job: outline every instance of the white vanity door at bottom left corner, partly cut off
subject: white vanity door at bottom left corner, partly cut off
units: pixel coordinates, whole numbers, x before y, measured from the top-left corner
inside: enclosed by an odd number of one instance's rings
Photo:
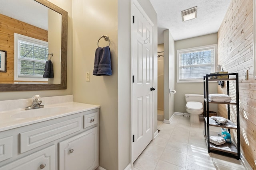
[[[0,167],[0,170],[54,170],[54,145]]]

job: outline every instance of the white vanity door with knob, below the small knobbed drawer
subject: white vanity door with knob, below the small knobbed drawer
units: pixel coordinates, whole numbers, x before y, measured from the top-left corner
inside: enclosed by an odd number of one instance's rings
[[[59,170],[94,170],[98,164],[98,127],[59,143]]]

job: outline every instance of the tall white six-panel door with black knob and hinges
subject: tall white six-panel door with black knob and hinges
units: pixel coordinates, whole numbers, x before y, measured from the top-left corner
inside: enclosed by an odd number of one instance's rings
[[[133,4],[132,24],[132,161],[142,153],[153,138],[153,26],[144,11]]]

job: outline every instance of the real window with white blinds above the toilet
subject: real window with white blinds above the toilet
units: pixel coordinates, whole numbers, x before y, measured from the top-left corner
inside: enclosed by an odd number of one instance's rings
[[[177,51],[177,82],[202,82],[203,76],[215,72],[217,45]]]

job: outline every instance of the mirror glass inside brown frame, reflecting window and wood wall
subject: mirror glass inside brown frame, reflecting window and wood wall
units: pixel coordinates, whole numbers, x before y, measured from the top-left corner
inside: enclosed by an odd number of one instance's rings
[[[60,84],[62,15],[34,0],[0,0],[0,50],[7,51],[2,84]],[[48,55],[48,54],[53,55]],[[51,60],[54,77],[43,78]]]

